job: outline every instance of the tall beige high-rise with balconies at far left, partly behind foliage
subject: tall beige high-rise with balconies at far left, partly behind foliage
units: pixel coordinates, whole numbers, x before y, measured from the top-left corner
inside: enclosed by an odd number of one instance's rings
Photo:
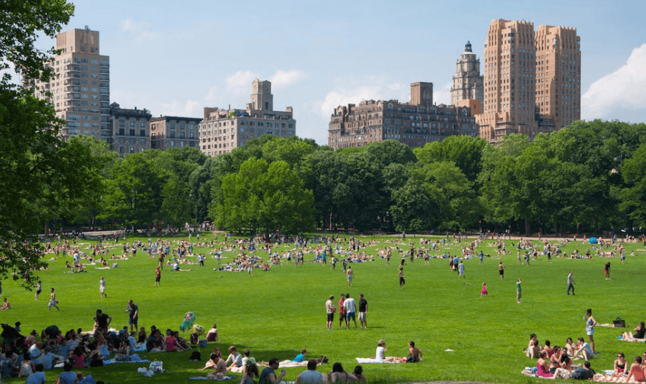
[[[62,135],[95,136],[111,142],[110,58],[99,54],[99,32],[71,29],[56,35],[60,55],[46,65],[53,67],[56,78],[49,83],[36,81],[36,96],[52,93],[50,102],[56,116],[65,124]]]

